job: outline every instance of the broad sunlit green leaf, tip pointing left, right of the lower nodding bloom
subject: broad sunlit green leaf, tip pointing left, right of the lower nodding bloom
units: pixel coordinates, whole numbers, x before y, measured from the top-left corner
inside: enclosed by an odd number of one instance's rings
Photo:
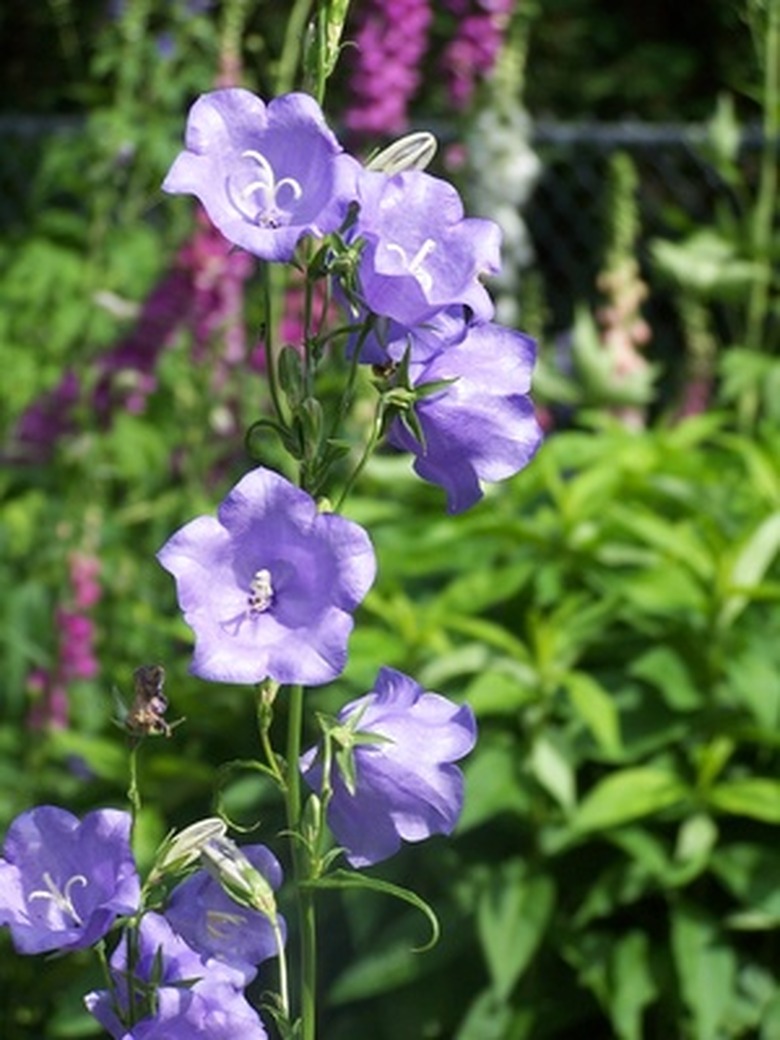
[[[682,802],[687,788],[672,773],[636,766],[612,773],[581,802],[573,827],[577,831],[606,830],[649,816]]]

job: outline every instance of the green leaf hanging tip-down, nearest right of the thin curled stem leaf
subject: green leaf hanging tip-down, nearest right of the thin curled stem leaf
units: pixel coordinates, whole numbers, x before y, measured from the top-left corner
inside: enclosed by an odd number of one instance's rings
[[[493,989],[505,1000],[539,947],[555,906],[549,875],[530,876],[522,860],[496,870],[479,896],[477,928]]]

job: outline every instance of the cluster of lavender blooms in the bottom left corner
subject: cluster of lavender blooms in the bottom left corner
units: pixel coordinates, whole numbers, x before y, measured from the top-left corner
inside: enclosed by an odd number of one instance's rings
[[[275,931],[267,913],[231,900],[203,869],[174,889],[164,914],[141,916],[130,823],[115,809],[81,821],[56,806],[23,812],[0,857],[0,927],[20,953],[40,954],[93,945],[126,918],[135,934],[115,945],[111,989],[85,997],[114,1040],[266,1040],[244,989],[280,953],[284,920],[274,912]],[[267,849],[236,854],[269,892],[279,887]]]

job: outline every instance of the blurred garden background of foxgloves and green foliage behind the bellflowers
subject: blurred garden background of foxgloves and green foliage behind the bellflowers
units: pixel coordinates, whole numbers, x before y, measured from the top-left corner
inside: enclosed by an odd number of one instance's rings
[[[392,454],[350,506],[380,579],[348,693],[382,659],[467,697],[482,737],[457,840],[392,862],[446,941],[414,955],[394,906],[328,908],[329,1040],[780,1035],[779,10],[353,4],[327,111],[365,152],[439,134],[503,228],[501,320],[540,338],[551,433],[456,522]],[[283,826],[256,777],[220,779],[252,702],[185,674],[153,555],[248,468],[266,402],[254,264],[159,183],[198,94],[275,93],[288,28],[274,0],[0,11],[3,829],[122,803],[113,694],[153,661],[186,722],[141,758],[149,847],[217,781]],[[696,161],[678,196],[670,139]],[[4,1037],[95,1035],[78,960],[4,953]]]

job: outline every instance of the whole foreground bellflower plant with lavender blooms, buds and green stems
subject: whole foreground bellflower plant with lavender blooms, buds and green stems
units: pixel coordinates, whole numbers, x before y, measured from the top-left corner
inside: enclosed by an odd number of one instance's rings
[[[323,0],[314,14],[319,53],[310,48],[303,63],[321,94],[346,4]],[[314,717],[319,739],[303,747],[315,687],[341,681],[375,578],[368,531],[333,505],[341,509],[372,452],[408,450],[458,513],[485,484],[528,464],[540,443],[528,396],[535,344],[493,321],[483,284],[500,266],[499,229],[467,216],[456,188],[420,168],[430,153],[427,140],[401,142],[365,168],[310,94],[266,102],[228,86],[196,101],[165,178],[165,191],[196,196],[225,240],[261,269],[270,408],[248,435],[258,464],[213,514],[171,535],[157,558],[193,633],[190,672],[255,691],[260,750],[251,766],[284,801],[297,971],[288,972],[277,905],[282,866],[265,846],[233,841],[227,821],[166,836],[139,877],[129,852],[138,750],[147,738],[175,737],[179,725],[165,718],[163,669],[141,667],[118,720],[131,745],[132,811],[79,823],[45,807],[14,826],[0,858],[10,893],[0,893],[0,926],[20,950],[102,946],[109,932],[120,934],[103,957],[106,988],[86,997],[115,1040],[265,1040],[245,991],[269,960],[278,985],[264,1012],[283,1040],[316,1040],[323,888],[401,900],[437,937],[419,895],[362,869],[405,842],[451,833],[464,797],[458,763],[476,737],[471,708],[380,667],[362,697],[335,717]],[[301,335],[280,344],[289,266],[303,278]],[[368,392],[374,417],[363,430],[353,405]],[[283,449],[284,473],[266,464],[270,439]],[[286,720],[282,739],[277,717]],[[93,838],[105,831],[112,869],[97,880],[70,868],[79,828],[90,862],[100,857]],[[32,915],[37,902],[56,914]],[[23,924],[33,917],[30,939]]]

